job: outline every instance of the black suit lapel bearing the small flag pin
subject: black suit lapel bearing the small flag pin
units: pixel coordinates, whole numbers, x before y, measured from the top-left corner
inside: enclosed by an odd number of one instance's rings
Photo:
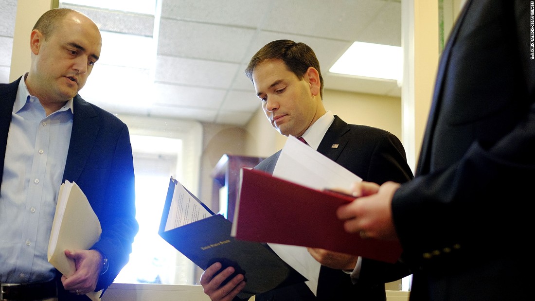
[[[349,131],[349,126],[345,121],[334,115],[334,121],[319,143],[318,152],[325,157],[336,161],[343,148],[346,147],[348,138],[343,137]]]

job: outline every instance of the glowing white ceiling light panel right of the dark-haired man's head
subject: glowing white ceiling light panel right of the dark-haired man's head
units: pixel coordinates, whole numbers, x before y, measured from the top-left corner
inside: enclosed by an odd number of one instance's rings
[[[331,73],[401,80],[401,47],[355,42],[329,69]]]

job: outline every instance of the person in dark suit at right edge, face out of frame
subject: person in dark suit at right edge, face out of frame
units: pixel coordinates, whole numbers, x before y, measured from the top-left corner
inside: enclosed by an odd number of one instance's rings
[[[357,183],[361,197],[337,212],[349,232],[400,241],[411,301],[533,298],[522,255],[533,229],[532,41],[533,1],[468,0],[440,59],[415,179]]]

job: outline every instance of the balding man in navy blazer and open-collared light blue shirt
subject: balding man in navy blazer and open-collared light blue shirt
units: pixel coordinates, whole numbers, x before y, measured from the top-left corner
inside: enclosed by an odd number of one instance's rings
[[[100,30],[52,9],[30,34],[28,73],[0,84],[0,286],[6,300],[88,300],[127,263],[137,233],[128,128],[78,91],[101,52]],[[47,249],[60,185],[78,184],[102,227],[90,250],[66,250],[65,277]]]

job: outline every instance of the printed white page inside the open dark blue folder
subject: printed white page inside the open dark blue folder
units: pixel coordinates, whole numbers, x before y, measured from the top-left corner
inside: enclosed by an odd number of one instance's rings
[[[176,181],[173,179],[173,181]],[[173,200],[167,215],[165,231],[188,223],[211,217],[206,210],[180,183],[175,182]]]

